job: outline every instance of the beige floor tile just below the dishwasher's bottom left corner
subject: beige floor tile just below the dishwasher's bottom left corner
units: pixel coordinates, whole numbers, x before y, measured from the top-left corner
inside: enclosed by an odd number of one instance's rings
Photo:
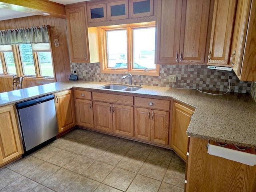
[[[38,165],[42,164],[44,161],[34,158],[32,156],[29,156],[28,158],[18,162],[14,166],[11,166],[10,169],[19,173],[19,174],[26,174],[30,170],[34,169]]]

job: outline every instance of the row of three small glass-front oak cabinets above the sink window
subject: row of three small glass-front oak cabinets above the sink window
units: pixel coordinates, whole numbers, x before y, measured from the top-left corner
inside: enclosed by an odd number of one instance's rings
[[[88,26],[155,21],[156,0],[94,0],[86,2]]]

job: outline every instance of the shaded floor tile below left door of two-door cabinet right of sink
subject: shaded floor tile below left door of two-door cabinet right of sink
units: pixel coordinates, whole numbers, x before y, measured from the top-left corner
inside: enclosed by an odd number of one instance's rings
[[[151,146],[151,145],[136,143],[128,151],[128,154],[146,159],[146,158],[148,158],[148,156],[153,148],[154,148],[154,146]]]

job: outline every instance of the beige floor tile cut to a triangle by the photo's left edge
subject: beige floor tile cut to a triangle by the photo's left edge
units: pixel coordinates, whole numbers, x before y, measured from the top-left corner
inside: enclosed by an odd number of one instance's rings
[[[2,168],[0,169],[0,190],[7,186],[8,184],[14,182],[18,178],[20,178],[22,175],[8,169],[8,168]]]

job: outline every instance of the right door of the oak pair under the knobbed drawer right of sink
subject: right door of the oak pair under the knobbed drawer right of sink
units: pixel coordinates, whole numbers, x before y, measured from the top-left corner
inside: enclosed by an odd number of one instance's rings
[[[151,141],[168,145],[168,138],[169,112],[151,110]]]

